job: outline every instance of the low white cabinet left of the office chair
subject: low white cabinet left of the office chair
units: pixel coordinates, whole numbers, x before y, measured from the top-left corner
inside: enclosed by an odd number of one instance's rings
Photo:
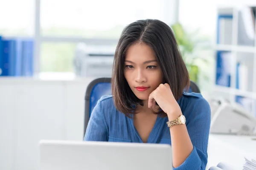
[[[82,140],[91,80],[1,78],[0,170],[38,169],[41,139]]]

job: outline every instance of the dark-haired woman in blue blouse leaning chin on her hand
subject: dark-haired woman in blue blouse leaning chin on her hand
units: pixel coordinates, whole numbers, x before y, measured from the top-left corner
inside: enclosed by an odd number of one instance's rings
[[[113,96],[97,102],[84,140],[171,144],[175,170],[205,170],[210,108],[201,94],[185,92],[189,82],[168,25],[129,24],[116,47]]]

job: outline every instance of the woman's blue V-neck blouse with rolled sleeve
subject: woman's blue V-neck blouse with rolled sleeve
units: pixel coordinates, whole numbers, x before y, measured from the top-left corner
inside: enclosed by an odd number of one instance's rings
[[[193,144],[192,153],[174,170],[205,170],[211,111],[201,94],[183,93],[177,101],[186,117],[186,127]],[[133,116],[133,115],[132,115]],[[157,117],[148,143],[171,144],[168,118]],[[87,125],[84,141],[143,142],[134,127],[133,119],[116,110],[112,96],[102,96]]]

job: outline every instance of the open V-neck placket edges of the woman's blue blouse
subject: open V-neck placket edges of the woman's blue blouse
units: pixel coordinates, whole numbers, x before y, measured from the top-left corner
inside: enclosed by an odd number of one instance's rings
[[[143,143],[143,140],[142,140],[140,134],[138,133],[136,127],[134,126],[134,114],[131,114],[130,124],[134,130],[134,133],[139,138],[140,143]],[[157,119],[156,119],[156,122],[154,123],[153,129],[149,133],[147,143],[156,143],[157,142],[157,138],[159,136],[160,129],[161,129],[162,125],[163,125],[163,119],[161,119],[160,116],[157,115]]]

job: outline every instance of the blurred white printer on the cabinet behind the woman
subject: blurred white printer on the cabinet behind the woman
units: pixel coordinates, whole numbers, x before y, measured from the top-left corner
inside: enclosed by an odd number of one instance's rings
[[[87,45],[78,43],[74,68],[79,77],[111,77],[115,45]]]

